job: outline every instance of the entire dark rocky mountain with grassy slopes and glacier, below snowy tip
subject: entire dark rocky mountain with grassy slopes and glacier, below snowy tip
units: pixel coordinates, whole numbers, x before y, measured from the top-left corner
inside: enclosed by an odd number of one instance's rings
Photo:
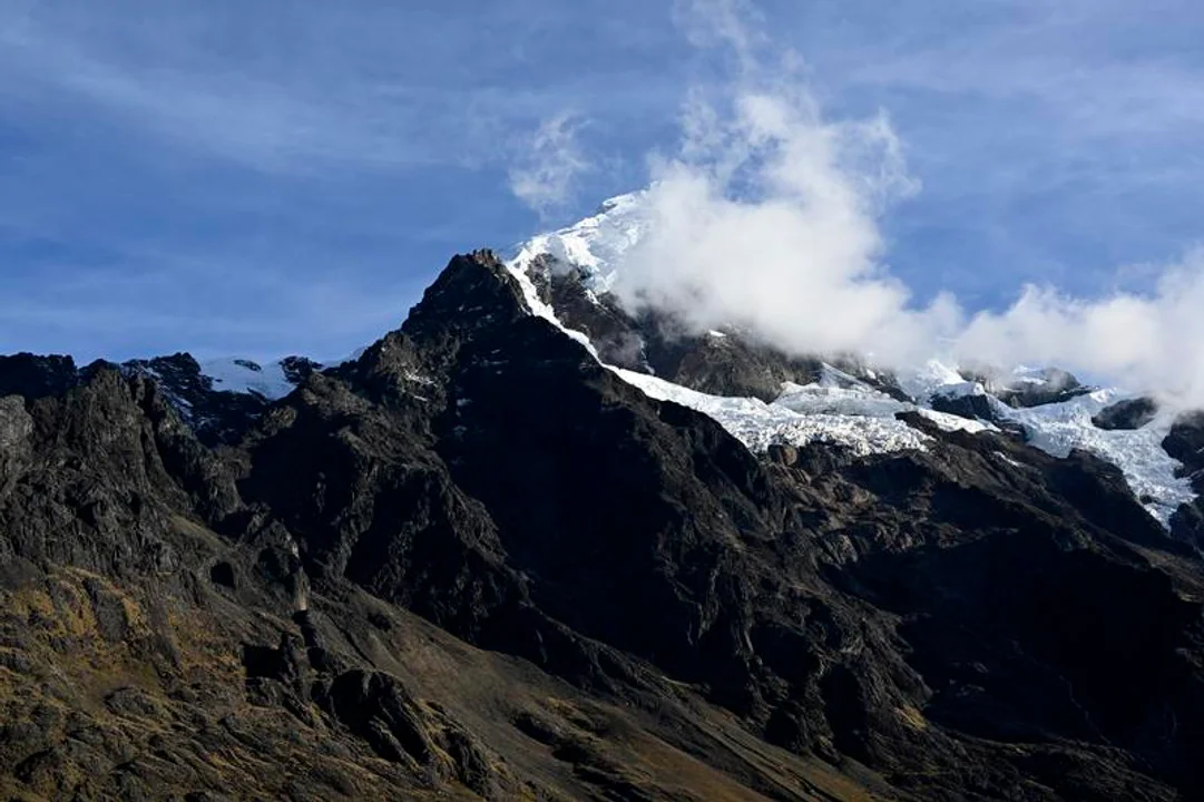
[[[5,798],[1204,796],[1199,417],[527,256],[337,365],[0,359]]]

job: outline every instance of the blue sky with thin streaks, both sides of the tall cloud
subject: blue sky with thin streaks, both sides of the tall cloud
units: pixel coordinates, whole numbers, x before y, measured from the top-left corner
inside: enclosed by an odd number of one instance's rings
[[[668,1],[0,13],[0,352],[348,353],[453,253],[644,184],[687,94],[731,81],[694,35],[701,12]],[[1204,241],[1198,2],[765,0],[744,16],[761,47],[797,51],[826,116],[890,118],[922,188],[884,218],[886,259],[917,301],[1141,290],[1144,265]],[[532,210],[514,177],[541,131],[576,167]]]

